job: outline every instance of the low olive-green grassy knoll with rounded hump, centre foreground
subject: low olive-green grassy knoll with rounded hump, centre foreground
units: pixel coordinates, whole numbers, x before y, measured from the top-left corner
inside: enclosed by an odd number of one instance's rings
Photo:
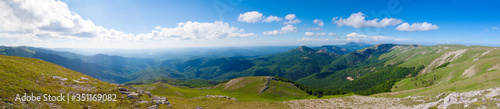
[[[234,97],[238,101],[288,101],[310,98],[310,95],[295,87],[293,84],[271,80],[269,88],[260,93],[264,87],[266,77],[243,77],[239,82],[225,87],[227,83],[210,88],[176,87],[164,83],[151,85],[133,85],[136,88],[149,90],[154,95],[176,96],[182,98],[204,97],[206,95],[224,95]]]

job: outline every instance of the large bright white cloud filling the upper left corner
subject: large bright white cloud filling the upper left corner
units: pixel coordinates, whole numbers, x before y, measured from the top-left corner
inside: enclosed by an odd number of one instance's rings
[[[115,37],[130,38],[113,29],[96,26],[71,12],[66,3],[56,0],[0,1],[0,31],[37,38]]]

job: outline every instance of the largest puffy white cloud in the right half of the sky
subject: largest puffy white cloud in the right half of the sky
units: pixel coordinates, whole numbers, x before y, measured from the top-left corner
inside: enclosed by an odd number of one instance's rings
[[[349,16],[347,19],[343,18],[339,19],[338,17],[334,17],[332,19],[332,22],[337,24],[338,27],[346,25],[354,28],[361,28],[361,27],[382,28],[387,26],[395,26],[403,22],[402,20],[396,18],[383,18],[380,21],[379,19],[365,20],[365,18],[366,18],[365,14],[358,12],[358,13],[352,13],[351,16]]]

